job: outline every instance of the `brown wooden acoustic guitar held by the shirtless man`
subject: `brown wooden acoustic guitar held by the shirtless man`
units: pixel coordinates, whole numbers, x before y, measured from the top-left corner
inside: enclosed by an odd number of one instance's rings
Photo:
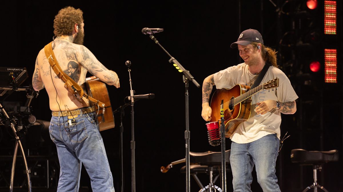
[[[96,98],[105,104],[105,113],[103,114],[103,108],[100,107],[100,110],[98,110],[98,106],[91,102],[91,106],[95,106],[95,112],[97,112],[99,131],[114,128],[114,116],[106,84],[95,76],[87,77],[84,84],[89,96]]]

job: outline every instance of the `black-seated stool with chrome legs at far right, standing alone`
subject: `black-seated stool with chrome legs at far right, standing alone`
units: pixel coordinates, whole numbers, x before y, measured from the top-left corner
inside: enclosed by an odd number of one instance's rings
[[[320,186],[317,183],[317,169],[321,171],[321,164],[328,163],[331,161],[338,161],[338,151],[306,151],[304,149],[293,149],[291,151],[291,161],[292,163],[299,163],[300,165],[312,165],[313,166],[313,184],[305,188],[305,191],[308,191],[311,188],[314,188],[315,192],[318,192],[318,189],[322,189],[325,192],[328,192],[324,187]]]

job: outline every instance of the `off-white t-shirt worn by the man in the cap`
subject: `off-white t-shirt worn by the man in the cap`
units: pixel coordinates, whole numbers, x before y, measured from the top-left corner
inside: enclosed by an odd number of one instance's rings
[[[241,63],[221,70],[214,74],[214,84],[217,89],[232,88],[236,84],[249,85],[253,75],[248,70],[248,65]],[[294,101],[298,98],[291,82],[280,69],[270,66],[261,83],[279,78],[279,87],[269,90],[262,90],[251,97],[250,118],[241,123],[230,139],[236,143],[249,143],[262,138],[265,135],[275,134],[280,139],[281,113],[276,109],[261,115],[256,114],[257,102],[275,100],[279,102]]]

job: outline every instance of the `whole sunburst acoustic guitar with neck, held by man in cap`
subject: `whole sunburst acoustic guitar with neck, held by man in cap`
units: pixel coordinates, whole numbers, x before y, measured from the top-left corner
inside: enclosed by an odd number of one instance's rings
[[[255,88],[237,84],[227,89],[218,89],[211,99],[212,119],[210,122],[220,121],[220,110],[224,110],[225,137],[230,137],[238,125],[247,121],[251,111],[251,96],[262,91],[279,86],[279,78],[263,83]],[[224,100],[223,105],[221,105]]]

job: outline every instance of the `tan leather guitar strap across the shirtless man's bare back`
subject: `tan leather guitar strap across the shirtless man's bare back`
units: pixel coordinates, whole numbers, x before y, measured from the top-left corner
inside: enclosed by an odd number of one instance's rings
[[[78,83],[76,83],[72,78],[70,78],[66,73],[63,72],[60,65],[58,64],[54,51],[52,51],[52,42],[45,45],[44,52],[51,68],[55,71],[57,77],[64,82],[64,87],[66,87],[69,92],[75,95],[75,97],[78,99],[82,99],[82,97],[85,97],[96,105],[99,105],[102,108],[105,107],[105,104],[103,102],[100,102],[99,100],[96,100],[93,97],[87,95]]]

